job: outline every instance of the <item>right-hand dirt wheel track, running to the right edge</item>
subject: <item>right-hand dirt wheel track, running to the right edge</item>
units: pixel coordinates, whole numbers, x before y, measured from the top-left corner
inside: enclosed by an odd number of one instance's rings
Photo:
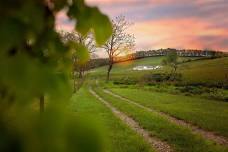
[[[157,111],[157,110],[154,110],[152,108],[148,108],[148,107],[145,107],[139,103],[136,103],[130,99],[127,99],[125,97],[122,97],[120,95],[117,95],[117,94],[114,94],[113,92],[109,91],[109,90],[103,90],[105,93],[109,94],[109,95],[112,95],[114,97],[117,97],[121,100],[124,100],[124,101],[127,101],[128,103],[130,104],[134,104],[136,105],[137,107],[140,107],[142,109],[145,109],[147,111],[150,111],[150,112],[155,112],[163,117],[166,117],[168,120],[170,120],[171,122],[177,124],[177,125],[180,125],[180,126],[184,126],[184,127],[187,127],[189,129],[192,130],[193,133],[195,134],[200,134],[201,136],[203,136],[204,138],[208,139],[208,140],[211,140],[211,141],[214,141],[220,145],[228,145],[228,140],[225,138],[225,137],[222,137],[222,136],[219,136],[219,135],[216,135],[215,133],[213,132],[210,132],[210,131],[206,131],[206,130],[203,130],[201,128],[199,128],[198,126],[195,126],[195,125],[192,125],[184,120],[180,120],[180,119],[177,119],[175,117],[172,117],[164,112],[160,112],[160,111]]]

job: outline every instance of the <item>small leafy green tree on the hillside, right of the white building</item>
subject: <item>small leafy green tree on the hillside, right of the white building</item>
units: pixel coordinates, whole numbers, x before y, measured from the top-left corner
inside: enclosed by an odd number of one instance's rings
[[[162,60],[163,65],[171,67],[170,76],[175,78],[177,68],[178,68],[178,54],[176,51],[170,51],[167,53],[167,56]]]

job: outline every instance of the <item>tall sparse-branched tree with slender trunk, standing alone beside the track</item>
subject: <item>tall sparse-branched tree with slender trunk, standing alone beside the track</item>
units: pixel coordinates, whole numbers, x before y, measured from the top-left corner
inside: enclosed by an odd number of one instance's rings
[[[120,55],[124,55],[131,51],[135,47],[135,37],[132,34],[127,33],[127,29],[131,23],[126,21],[124,16],[118,16],[115,20],[112,20],[113,33],[110,39],[106,42],[102,48],[108,54],[109,66],[107,71],[107,81],[110,78],[110,72],[112,70],[115,58]]]

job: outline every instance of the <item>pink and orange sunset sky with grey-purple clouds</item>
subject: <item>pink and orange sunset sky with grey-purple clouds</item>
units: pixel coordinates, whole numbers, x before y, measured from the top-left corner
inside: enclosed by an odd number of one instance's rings
[[[228,51],[228,0],[86,0],[110,18],[124,15],[134,25],[136,50],[159,48]],[[71,30],[64,13],[57,28]]]

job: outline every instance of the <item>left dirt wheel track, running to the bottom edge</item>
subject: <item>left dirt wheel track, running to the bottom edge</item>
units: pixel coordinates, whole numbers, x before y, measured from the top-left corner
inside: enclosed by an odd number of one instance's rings
[[[139,124],[134,121],[132,118],[128,117],[124,113],[118,111],[115,107],[113,107],[111,104],[109,104],[107,101],[102,99],[99,95],[97,95],[92,89],[89,90],[90,93],[95,96],[97,99],[99,99],[106,107],[108,107],[119,119],[121,119],[123,122],[125,122],[130,128],[132,128],[134,131],[136,131],[138,134],[140,134],[155,150],[158,152],[171,152],[171,147],[150,135],[150,133],[143,128],[139,126]]]

